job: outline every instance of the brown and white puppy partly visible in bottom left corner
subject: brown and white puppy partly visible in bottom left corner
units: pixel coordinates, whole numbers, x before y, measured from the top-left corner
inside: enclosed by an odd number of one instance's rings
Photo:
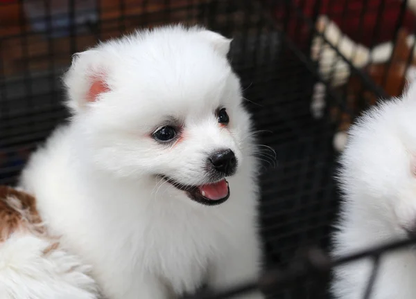
[[[98,298],[89,266],[48,232],[35,197],[7,186],[0,186],[0,298]]]

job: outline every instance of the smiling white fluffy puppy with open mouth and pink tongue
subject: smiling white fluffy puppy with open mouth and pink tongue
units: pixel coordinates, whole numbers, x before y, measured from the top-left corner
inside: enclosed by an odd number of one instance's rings
[[[106,298],[259,274],[257,161],[229,44],[203,28],[146,30],[78,53],[64,77],[73,116],[21,186]]]

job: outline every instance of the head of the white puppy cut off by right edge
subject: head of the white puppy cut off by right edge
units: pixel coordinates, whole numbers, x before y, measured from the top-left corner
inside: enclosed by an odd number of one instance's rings
[[[352,127],[341,158],[348,217],[389,237],[416,232],[415,98],[413,84],[402,98],[367,111]]]

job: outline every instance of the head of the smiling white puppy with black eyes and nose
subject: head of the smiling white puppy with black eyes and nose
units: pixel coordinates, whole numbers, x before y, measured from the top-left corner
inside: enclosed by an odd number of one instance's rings
[[[76,55],[64,82],[83,152],[116,176],[156,177],[196,201],[225,201],[226,178],[250,147],[229,44],[202,28],[174,26]]]

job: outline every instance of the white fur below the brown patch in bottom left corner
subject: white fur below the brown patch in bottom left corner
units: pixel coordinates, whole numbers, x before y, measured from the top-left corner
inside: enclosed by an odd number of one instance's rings
[[[44,253],[53,243],[15,233],[0,245],[1,299],[97,299],[91,270],[61,248]]]

